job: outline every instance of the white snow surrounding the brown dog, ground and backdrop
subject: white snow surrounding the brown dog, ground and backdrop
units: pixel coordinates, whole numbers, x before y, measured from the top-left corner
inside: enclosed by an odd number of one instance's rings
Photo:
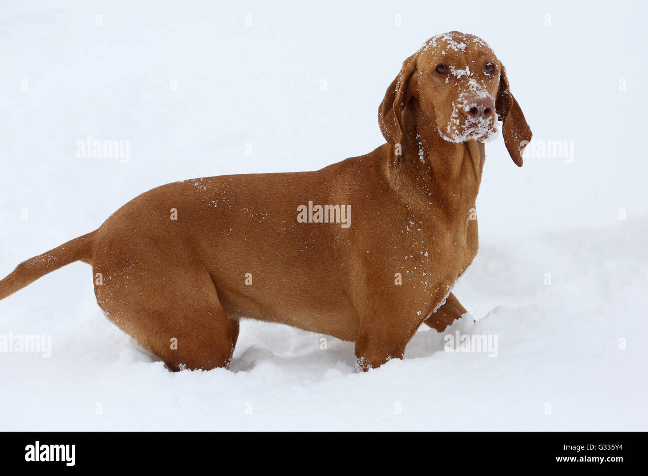
[[[486,146],[480,251],[453,289],[470,315],[364,374],[353,343],[254,321],[231,371],[172,373],[75,263],[0,302],[0,334],[52,336],[49,358],[0,353],[0,430],[647,430],[647,7],[299,5],[5,1],[0,275],[163,183],[370,152],[402,61],[456,29],[507,67],[536,153],[520,169]],[[88,136],[130,160],[76,157]],[[497,356],[445,352],[456,330]]]

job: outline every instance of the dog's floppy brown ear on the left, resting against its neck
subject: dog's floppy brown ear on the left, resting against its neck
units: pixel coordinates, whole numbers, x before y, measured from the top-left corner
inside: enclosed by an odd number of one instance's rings
[[[402,69],[396,78],[391,82],[385,93],[385,97],[378,108],[378,124],[380,131],[389,144],[395,146],[396,167],[399,166],[400,153],[404,147],[405,130],[403,127],[402,113],[408,102],[410,94],[408,85],[410,77],[416,69],[416,60],[419,52],[415,52],[403,62]]]

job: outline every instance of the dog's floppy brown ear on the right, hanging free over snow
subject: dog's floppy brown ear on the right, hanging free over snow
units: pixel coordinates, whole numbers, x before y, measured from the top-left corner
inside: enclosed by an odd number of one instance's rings
[[[520,105],[511,94],[509,80],[506,77],[504,65],[500,63],[500,89],[497,91],[495,108],[498,119],[502,121],[502,135],[511,159],[518,167],[522,166],[522,151],[531,141],[533,134],[531,128],[524,119],[524,113]]]

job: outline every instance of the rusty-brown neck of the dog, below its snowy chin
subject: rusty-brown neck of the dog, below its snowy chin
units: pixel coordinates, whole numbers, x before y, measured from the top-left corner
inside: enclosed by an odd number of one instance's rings
[[[423,208],[443,203],[448,213],[467,214],[474,207],[485,159],[481,142],[450,142],[441,137],[434,119],[412,100],[404,113],[406,144],[397,161],[394,148],[386,174],[408,201]],[[398,166],[397,166],[398,163]]]

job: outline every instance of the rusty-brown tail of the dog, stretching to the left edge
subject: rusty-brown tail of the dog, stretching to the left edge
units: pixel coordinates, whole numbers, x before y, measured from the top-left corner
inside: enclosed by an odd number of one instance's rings
[[[34,256],[22,262],[5,279],[0,281],[0,299],[12,295],[19,289],[25,288],[28,284],[38,278],[51,273],[55,269],[75,261],[83,261],[92,264],[92,245],[95,232],[84,234],[74,240],[60,245],[42,255]]]

